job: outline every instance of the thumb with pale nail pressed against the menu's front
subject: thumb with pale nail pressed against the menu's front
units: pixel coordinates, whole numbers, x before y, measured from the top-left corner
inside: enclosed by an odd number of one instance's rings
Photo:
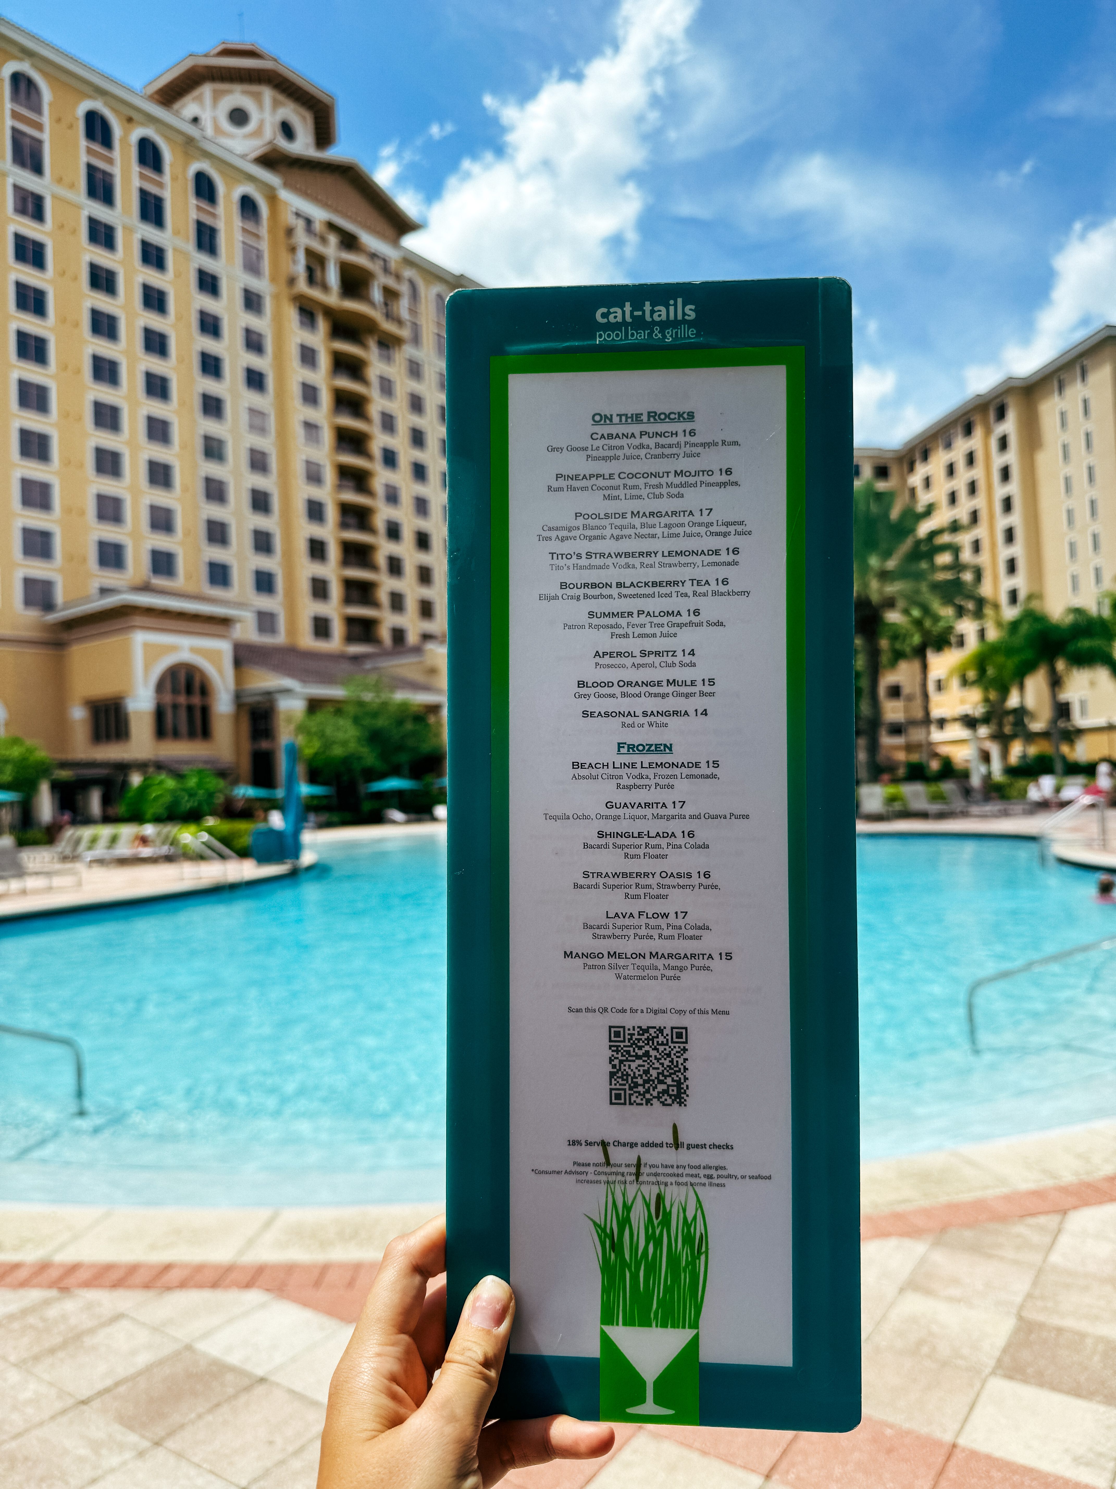
[[[442,1373],[427,1397],[427,1409],[442,1419],[461,1446],[476,1444],[481,1435],[513,1318],[515,1298],[503,1278],[482,1278],[461,1309]]]

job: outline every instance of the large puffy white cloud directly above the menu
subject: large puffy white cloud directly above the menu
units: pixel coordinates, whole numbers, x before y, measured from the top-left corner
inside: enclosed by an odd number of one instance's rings
[[[409,241],[487,284],[623,277],[647,197],[638,182],[698,0],[622,0],[615,45],[527,103],[485,98],[500,150],[466,159]]]

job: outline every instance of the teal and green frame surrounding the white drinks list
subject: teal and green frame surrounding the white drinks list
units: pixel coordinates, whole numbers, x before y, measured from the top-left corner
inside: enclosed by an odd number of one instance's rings
[[[595,307],[652,289],[696,304],[699,344],[597,350]],[[860,1419],[860,1300],[851,304],[841,280],[449,299],[448,1327],[481,1276],[509,1278],[507,380],[719,366],[786,368],[793,1364],[701,1364],[701,1422],[848,1431]],[[509,1355],[493,1410],[595,1418],[598,1371],[597,1358]]]

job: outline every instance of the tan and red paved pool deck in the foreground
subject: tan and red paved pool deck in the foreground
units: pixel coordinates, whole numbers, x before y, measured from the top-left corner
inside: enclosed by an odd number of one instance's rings
[[[865,1421],[620,1426],[531,1489],[1112,1489],[1116,1121],[868,1163]],[[0,1206],[0,1483],[312,1489],[387,1240],[434,1206]]]

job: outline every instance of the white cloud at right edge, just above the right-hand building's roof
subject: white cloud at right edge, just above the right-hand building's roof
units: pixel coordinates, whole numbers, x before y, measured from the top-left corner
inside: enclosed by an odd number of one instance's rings
[[[970,393],[1007,374],[1033,372],[1077,337],[1116,320],[1116,217],[1088,229],[1074,223],[1051,267],[1054,286],[1034,317],[1030,341],[1009,342],[995,362],[966,368]]]

